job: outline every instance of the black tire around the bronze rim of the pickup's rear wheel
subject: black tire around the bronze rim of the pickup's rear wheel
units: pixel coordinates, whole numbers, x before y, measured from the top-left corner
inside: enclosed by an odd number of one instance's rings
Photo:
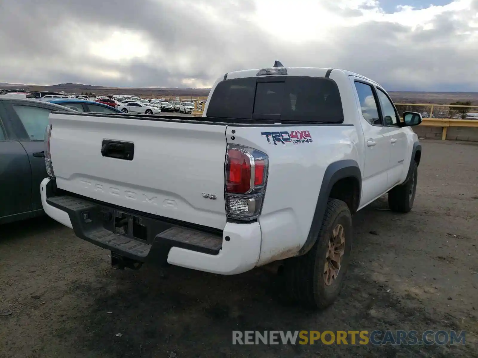
[[[340,270],[331,285],[326,285],[324,268],[328,243],[333,229],[344,228],[345,247]],[[289,297],[306,308],[324,309],[331,305],[342,289],[352,249],[352,216],[345,202],[329,199],[322,226],[314,246],[302,256],[284,261],[283,274]]]

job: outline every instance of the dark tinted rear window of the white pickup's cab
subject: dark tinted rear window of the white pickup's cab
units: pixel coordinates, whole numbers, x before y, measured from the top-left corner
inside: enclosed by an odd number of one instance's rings
[[[260,82],[258,82],[258,80]],[[342,123],[337,84],[328,78],[239,78],[217,84],[208,117]],[[281,82],[279,82],[281,81]],[[273,116],[268,118],[267,116]]]

